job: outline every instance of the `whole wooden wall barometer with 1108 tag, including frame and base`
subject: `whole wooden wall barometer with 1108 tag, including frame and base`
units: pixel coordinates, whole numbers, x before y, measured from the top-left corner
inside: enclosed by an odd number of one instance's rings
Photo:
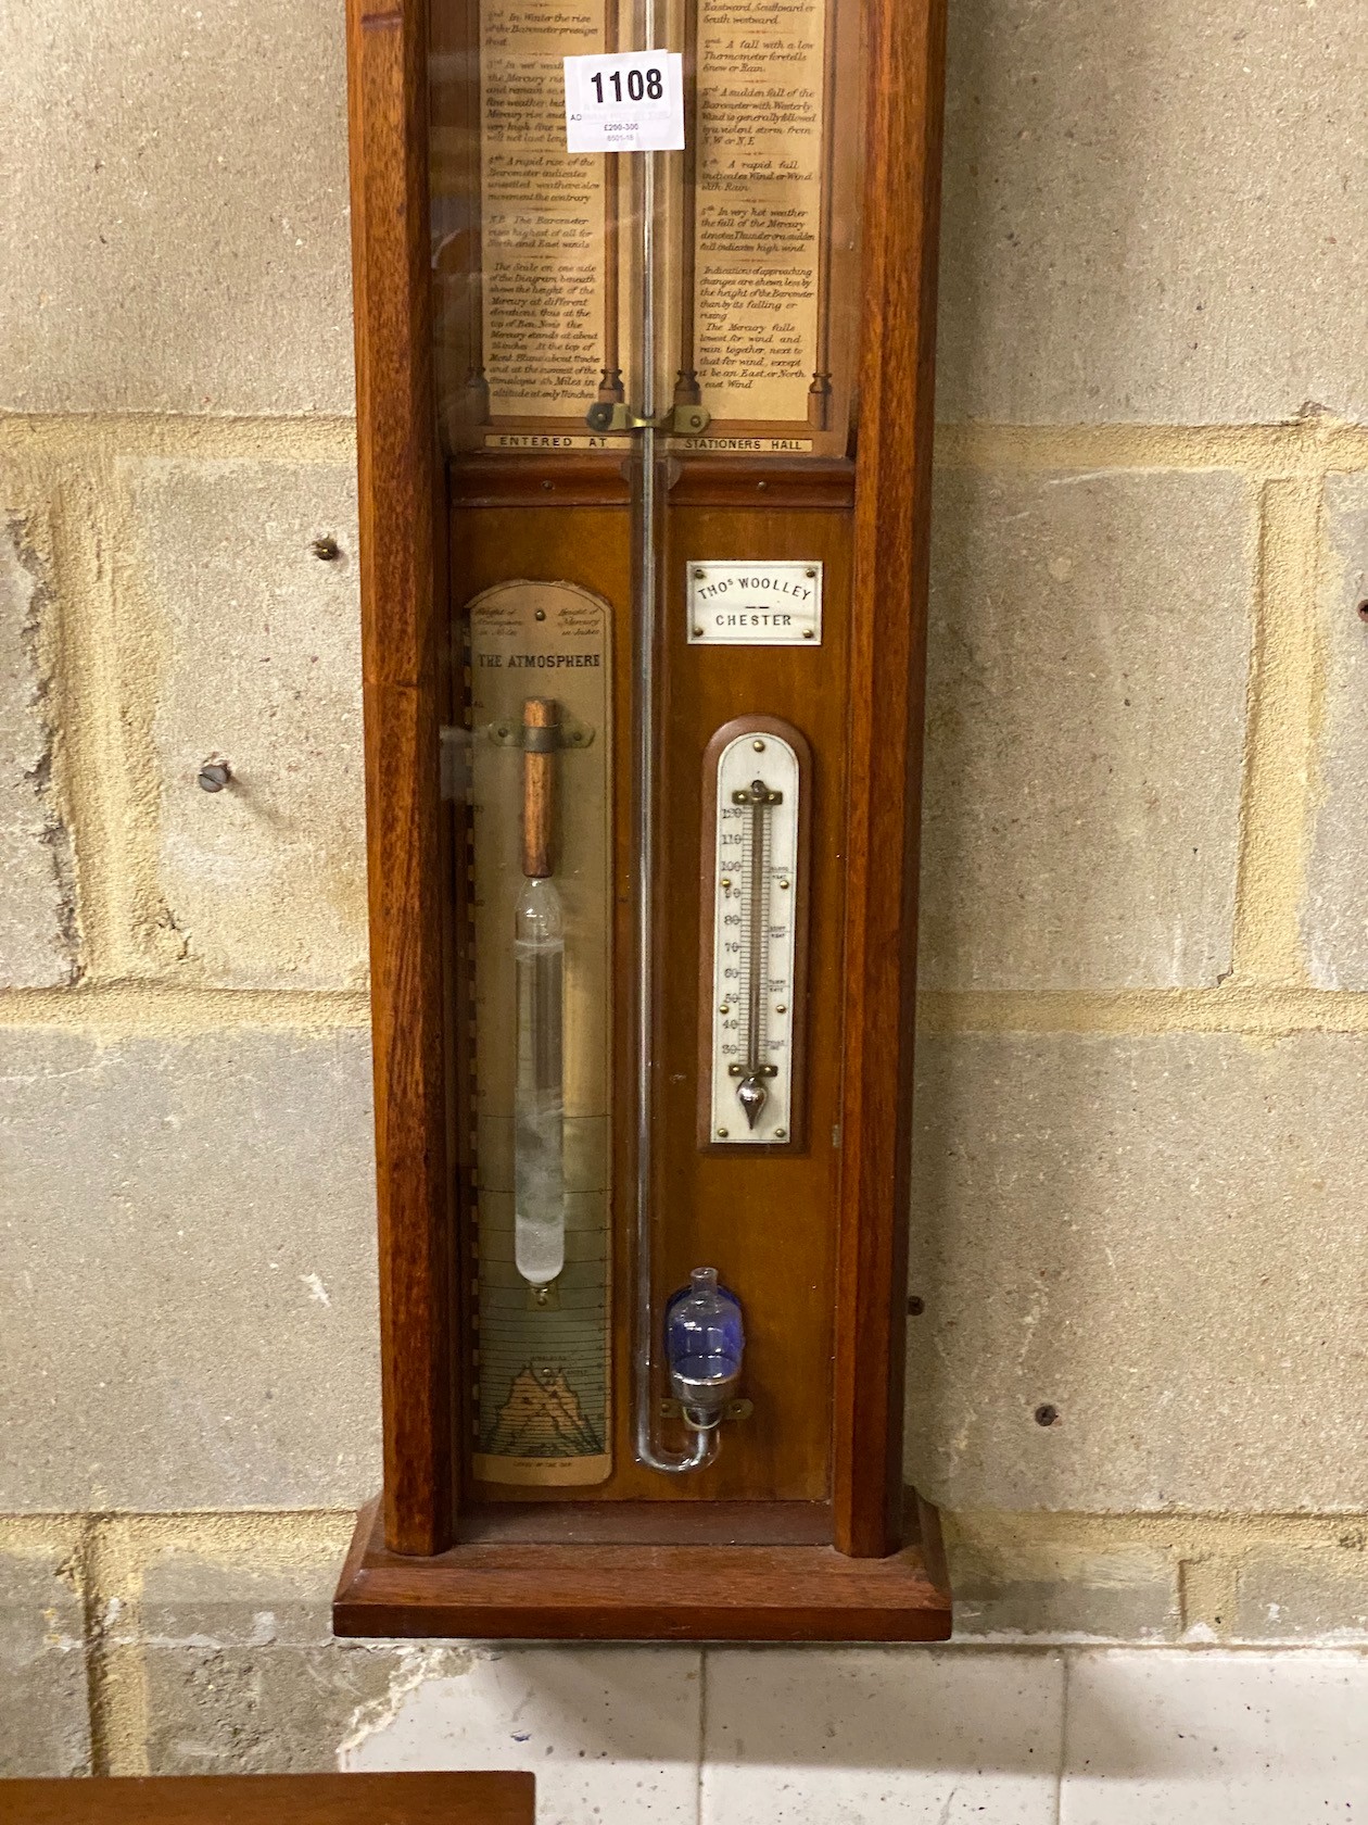
[[[941,11],[348,0],[341,1633],[948,1633],[901,1444]]]

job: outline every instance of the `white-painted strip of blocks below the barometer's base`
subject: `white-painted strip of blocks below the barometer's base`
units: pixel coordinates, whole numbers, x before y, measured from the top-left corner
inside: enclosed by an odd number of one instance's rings
[[[480,1648],[348,1768],[533,1768],[540,1825],[1368,1825],[1368,1653]]]

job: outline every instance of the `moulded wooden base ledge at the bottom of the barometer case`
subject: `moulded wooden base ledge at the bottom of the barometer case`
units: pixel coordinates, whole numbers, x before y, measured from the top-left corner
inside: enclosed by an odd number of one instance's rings
[[[483,1641],[947,1641],[934,1509],[921,1526],[921,1538],[888,1559],[846,1559],[832,1546],[536,1542],[407,1559],[387,1551],[372,1504],[332,1626],[348,1637]]]

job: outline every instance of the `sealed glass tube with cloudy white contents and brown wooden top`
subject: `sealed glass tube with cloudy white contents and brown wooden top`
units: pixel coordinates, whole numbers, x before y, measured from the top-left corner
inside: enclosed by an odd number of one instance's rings
[[[536,1294],[565,1265],[565,920],[553,867],[560,708],[523,704],[522,874],[513,954],[518,1079],[513,1102],[514,1261]]]

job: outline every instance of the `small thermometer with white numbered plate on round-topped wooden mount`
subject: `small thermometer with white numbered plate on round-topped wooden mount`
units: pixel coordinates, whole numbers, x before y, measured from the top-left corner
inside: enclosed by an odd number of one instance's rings
[[[808,743],[739,717],[704,756],[702,1146],[795,1146],[803,1135]]]

